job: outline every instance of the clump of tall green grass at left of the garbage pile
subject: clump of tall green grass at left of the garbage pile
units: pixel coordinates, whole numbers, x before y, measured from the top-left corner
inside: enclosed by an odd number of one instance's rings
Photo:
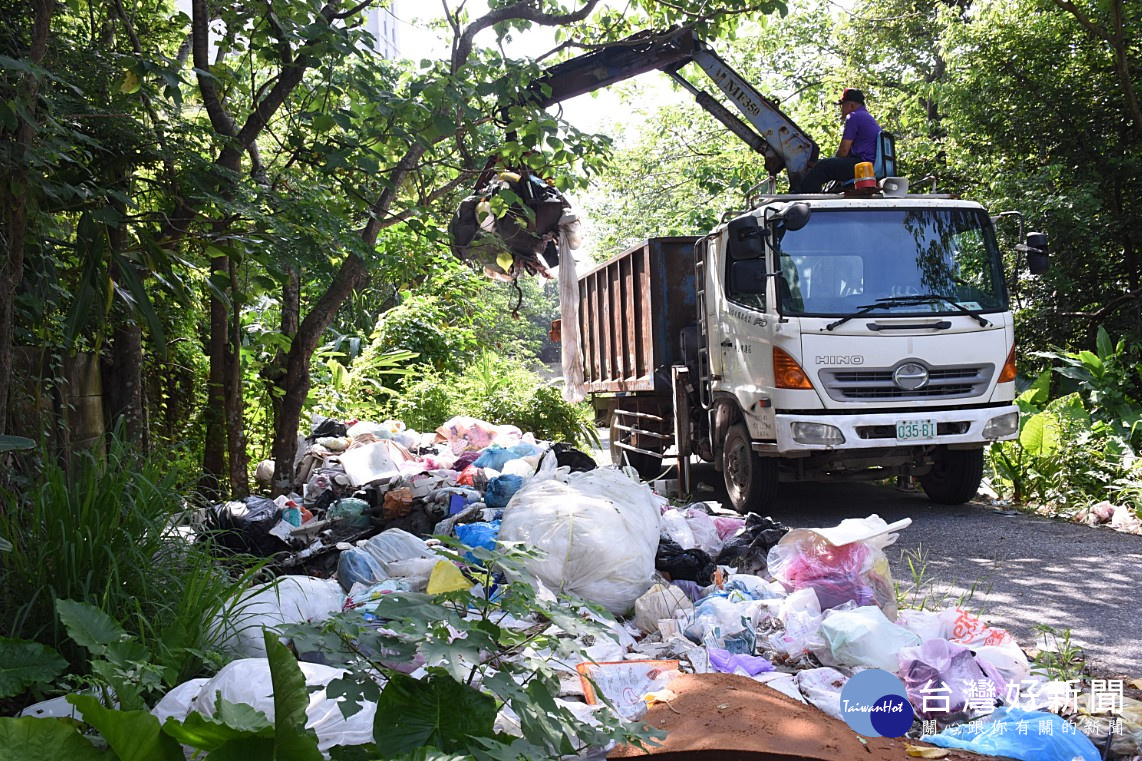
[[[67,640],[56,600],[89,602],[143,643],[164,681],[194,675],[207,632],[236,582],[209,554],[172,534],[186,511],[159,458],[112,441],[106,457],[71,473],[49,464],[22,491],[0,492],[0,635],[54,647],[82,673],[87,654]]]

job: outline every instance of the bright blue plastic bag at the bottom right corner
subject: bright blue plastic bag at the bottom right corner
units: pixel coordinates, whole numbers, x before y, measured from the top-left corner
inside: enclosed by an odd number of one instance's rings
[[[1047,722],[1049,730],[1042,731],[1040,721]],[[1020,723],[1026,723],[1027,734],[1019,734]],[[957,747],[1021,761],[1099,761],[1102,758],[1094,743],[1073,724],[1043,711],[1002,706],[984,720],[980,731],[970,729],[970,724],[956,724],[939,735],[925,735],[920,739],[940,747]]]

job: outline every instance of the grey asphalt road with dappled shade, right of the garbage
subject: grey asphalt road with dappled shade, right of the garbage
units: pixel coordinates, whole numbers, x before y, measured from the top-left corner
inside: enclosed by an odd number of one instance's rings
[[[697,498],[729,504],[719,473],[699,466],[694,475],[713,487]],[[1094,673],[1142,676],[1142,536],[983,504],[936,505],[923,491],[872,483],[782,483],[772,511],[794,528],[874,513],[890,523],[912,519],[885,552],[893,577],[909,586],[907,556],[923,555],[922,596],[950,601],[970,593],[968,609],[1024,648],[1036,643],[1036,624],[1060,634],[1069,628]]]

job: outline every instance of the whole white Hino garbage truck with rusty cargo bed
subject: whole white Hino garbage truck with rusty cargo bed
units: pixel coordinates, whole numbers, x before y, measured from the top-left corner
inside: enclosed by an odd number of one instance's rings
[[[1045,266],[1045,237],[1019,248]],[[612,455],[646,478],[674,459],[684,488],[692,455],[713,462],[742,512],[766,510],[781,481],[893,475],[963,503],[984,448],[1019,431],[1003,257],[972,201],[891,177],[765,195],[579,285],[585,377]]]

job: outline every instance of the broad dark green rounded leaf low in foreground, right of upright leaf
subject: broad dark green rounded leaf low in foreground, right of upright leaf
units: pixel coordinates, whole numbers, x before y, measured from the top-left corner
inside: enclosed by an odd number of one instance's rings
[[[460,752],[475,737],[491,737],[496,700],[435,671],[417,680],[393,674],[377,702],[372,738],[387,753],[423,746]]]

